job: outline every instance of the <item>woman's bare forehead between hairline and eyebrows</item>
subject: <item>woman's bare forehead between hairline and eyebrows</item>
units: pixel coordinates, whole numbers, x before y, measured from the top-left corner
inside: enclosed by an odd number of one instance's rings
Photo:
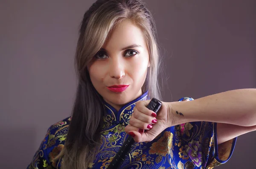
[[[145,38],[142,30],[130,20],[118,23],[108,36],[105,49],[123,48],[132,44],[145,47]]]

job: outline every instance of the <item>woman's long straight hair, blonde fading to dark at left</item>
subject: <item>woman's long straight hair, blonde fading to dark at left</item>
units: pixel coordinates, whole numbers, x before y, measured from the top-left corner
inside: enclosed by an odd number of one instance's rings
[[[159,50],[153,17],[141,0],[97,0],[85,12],[76,47],[78,86],[72,120],[64,148],[54,160],[63,159],[61,169],[87,169],[101,145],[105,106],[103,98],[91,83],[87,65],[102,48],[111,30],[122,20],[131,20],[142,31],[147,43],[150,67],[142,92],[161,99],[158,84]]]

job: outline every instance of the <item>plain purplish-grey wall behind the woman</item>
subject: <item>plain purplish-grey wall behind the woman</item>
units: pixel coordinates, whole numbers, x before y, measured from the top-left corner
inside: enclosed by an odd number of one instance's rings
[[[26,168],[70,116],[79,23],[94,0],[0,1],[0,168]],[[256,87],[255,0],[145,0],[164,56],[163,101]],[[246,113],[246,112],[244,112]],[[218,169],[255,166],[256,133]]]

